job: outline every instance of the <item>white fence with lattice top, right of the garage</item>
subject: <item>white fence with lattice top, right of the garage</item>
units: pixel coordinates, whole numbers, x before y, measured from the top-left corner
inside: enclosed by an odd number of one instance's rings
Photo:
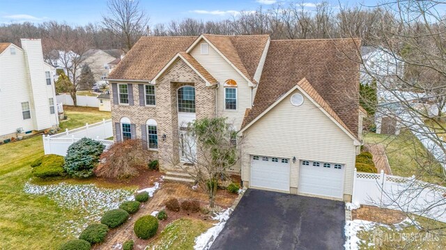
[[[353,175],[353,203],[402,210],[446,222],[446,187],[381,173]]]

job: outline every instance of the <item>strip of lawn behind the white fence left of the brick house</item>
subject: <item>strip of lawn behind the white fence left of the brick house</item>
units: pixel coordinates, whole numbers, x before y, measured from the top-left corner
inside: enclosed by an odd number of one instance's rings
[[[85,123],[93,124],[98,123],[102,119],[112,118],[112,112],[99,111],[94,107],[72,107],[63,106],[63,110],[68,116],[68,120],[61,120],[59,127],[62,130],[72,130],[76,127],[85,126]]]

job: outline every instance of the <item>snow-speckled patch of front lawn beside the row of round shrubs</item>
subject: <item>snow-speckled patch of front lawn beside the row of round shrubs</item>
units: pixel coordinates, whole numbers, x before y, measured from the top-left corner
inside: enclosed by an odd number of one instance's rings
[[[105,189],[89,185],[72,185],[61,182],[54,185],[24,185],[27,194],[45,195],[61,208],[76,210],[79,213],[75,221],[61,225],[64,236],[77,237],[93,221],[99,221],[102,214],[118,208],[123,201],[133,199],[133,192],[125,189]]]

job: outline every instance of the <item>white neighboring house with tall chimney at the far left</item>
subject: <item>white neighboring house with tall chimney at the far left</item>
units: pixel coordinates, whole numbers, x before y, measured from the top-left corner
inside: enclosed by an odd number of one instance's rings
[[[22,39],[22,47],[0,43],[0,139],[59,125],[54,68],[43,61],[40,39]]]

